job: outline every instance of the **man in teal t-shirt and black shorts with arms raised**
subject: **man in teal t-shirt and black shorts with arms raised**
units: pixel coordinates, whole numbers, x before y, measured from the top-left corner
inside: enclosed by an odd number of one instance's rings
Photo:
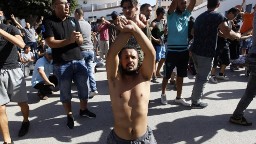
[[[175,102],[190,106],[181,97],[183,78],[187,77],[188,68],[188,17],[193,11],[196,0],[191,0],[188,7],[185,0],[173,0],[167,12],[168,40],[165,57],[165,73],[162,83],[161,102],[167,105],[166,87],[172,71],[177,67],[177,96]],[[187,7],[187,8],[186,8]]]

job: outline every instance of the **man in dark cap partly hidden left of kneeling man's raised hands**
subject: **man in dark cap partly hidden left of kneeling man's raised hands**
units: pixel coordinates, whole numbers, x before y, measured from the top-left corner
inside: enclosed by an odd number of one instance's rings
[[[111,43],[113,43],[116,39],[116,37],[119,35],[120,31],[117,29],[118,21],[120,21],[120,13],[117,11],[113,11],[111,13],[111,18],[113,20],[113,23],[109,25],[108,28],[108,35],[109,35],[109,46]]]

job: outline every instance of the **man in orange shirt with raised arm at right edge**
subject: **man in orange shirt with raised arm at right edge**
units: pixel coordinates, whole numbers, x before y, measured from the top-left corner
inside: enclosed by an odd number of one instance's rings
[[[242,36],[246,36],[246,35],[251,35],[252,34],[252,22],[253,22],[253,16],[254,13],[256,11],[256,4],[252,7],[253,12],[252,13],[246,13],[246,12],[242,12],[241,9],[243,7],[245,3],[245,0],[243,0],[243,3],[240,6],[240,12],[239,15],[241,15],[242,17],[244,17],[244,22],[243,25],[240,28],[240,33],[242,34]],[[251,46],[251,42],[252,42],[252,38],[249,37],[247,39],[245,39],[241,45],[242,47],[242,54],[245,54],[246,49],[249,48]]]

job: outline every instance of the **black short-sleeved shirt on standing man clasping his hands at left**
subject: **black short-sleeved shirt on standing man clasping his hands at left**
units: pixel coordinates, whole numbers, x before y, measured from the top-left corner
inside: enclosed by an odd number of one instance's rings
[[[55,14],[47,17],[42,23],[42,33],[44,38],[54,37],[56,40],[68,39],[73,31],[79,31],[81,28],[78,20],[73,17],[67,17],[65,20],[60,20]],[[88,31],[89,33],[90,31]],[[71,43],[69,45],[52,49],[53,63],[81,60],[83,56],[80,52],[78,44]]]

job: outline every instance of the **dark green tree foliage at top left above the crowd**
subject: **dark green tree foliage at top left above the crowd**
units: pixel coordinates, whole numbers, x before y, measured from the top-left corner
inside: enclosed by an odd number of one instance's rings
[[[74,13],[79,5],[78,0],[68,0],[71,4],[69,13]],[[6,19],[10,20],[11,14],[20,19],[25,19],[30,25],[35,25],[37,18],[47,17],[54,13],[52,0],[1,0],[1,11],[4,12]]]

